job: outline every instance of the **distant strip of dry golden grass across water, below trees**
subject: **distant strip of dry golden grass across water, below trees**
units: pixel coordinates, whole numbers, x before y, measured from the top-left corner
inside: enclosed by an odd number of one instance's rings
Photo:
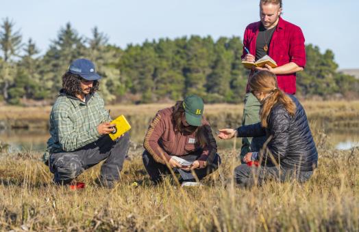
[[[334,127],[359,128],[359,101],[304,101],[308,119]],[[149,121],[161,108],[173,104],[107,105],[111,116],[125,115],[135,130],[147,128]],[[19,107],[1,106],[0,128],[46,128],[50,106]],[[206,104],[204,114],[212,126],[238,126],[241,122],[243,104]]]

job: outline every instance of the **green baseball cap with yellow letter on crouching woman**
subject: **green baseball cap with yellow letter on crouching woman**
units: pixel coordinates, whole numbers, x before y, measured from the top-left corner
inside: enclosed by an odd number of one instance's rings
[[[202,126],[203,100],[197,95],[184,98],[183,104],[186,121],[190,126]]]

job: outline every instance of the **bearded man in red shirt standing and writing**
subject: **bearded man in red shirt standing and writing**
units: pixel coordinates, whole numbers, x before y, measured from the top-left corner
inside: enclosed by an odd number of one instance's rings
[[[269,70],[277,76],[278,87],[284,92],[295,94],[296,72],[306,66],[306,47],[301,29],[281,17],[282,0],[260,0],[260,21],[251,23],[245,29],[243,38],[243,61],[254,62],[269,55],[277,63],[277,68],[266,66],[251,70],[249,78],[256,70]],[[259,118],[260,102],[247,91],[243,111],[243,126],[256,124]],[[244,138],[240,159],[251,151],[259,151],[265,137]]]

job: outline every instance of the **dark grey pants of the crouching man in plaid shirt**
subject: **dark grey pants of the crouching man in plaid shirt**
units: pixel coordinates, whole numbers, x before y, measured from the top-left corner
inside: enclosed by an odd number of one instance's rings
[[[105,135],[76,151],[51,154],[50,171],[54,174],[54,182],[68,184],[84,170],[105,160],[101,166],[101,180],[119,179],[123,161],[129,148],[129,134],[112,141]]]

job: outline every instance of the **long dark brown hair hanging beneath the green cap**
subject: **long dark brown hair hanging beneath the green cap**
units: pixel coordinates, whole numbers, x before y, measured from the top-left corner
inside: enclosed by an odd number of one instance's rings
[[[173,106],[172,123],[175,133],[181,133],[184,135],[196,134],[196,141],[199,147],[205,147],[207,145],[206,132],[203,126],[184,126],[182,118],[184,117],[183,101],[176,102]]]

